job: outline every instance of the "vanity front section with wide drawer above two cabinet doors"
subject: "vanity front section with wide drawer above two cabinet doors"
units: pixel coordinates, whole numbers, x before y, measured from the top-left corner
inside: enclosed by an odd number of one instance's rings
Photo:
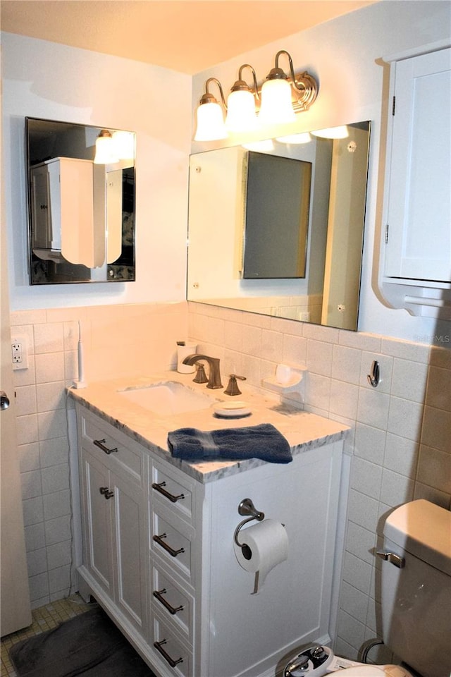
[[[78,415],[80,575],[140,635],[147,633],[144,453],[89,412]]]

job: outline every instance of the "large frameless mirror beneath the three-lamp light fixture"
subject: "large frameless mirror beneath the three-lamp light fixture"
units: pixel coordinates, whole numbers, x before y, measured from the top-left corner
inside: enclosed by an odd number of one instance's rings
[[[187,299],[357,331],[369,134],[192,155]]]

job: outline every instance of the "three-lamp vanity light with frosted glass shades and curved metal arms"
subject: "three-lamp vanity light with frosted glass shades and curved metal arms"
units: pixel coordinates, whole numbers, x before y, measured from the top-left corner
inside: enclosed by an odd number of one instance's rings
[[[288,75],[279,67],[279,59],[283,54],[288,57],[290,67]],[[242,79],[244,68],[250,68],[252,71],[252,86]],[[221,103],[209,92],[210,83],[218,85]],[[238,79],[231,87],[227,104],[219,80],[217,78],[206,80],[205,92],[197,107],[197,130],[194,140],[214,141],[227,138],[228,131],[245,133],[256,130],[257,126],[293,122],[295,114],[307,111],[317,94],[316,80],[307,71],[295,75],[290,54],[281,49],[276,54],[274,68],[271,68],[261,87],[257,85],[254,68],[249,63],[240,66]],[[226,123],[223,119],[224,110],[227,111]]]

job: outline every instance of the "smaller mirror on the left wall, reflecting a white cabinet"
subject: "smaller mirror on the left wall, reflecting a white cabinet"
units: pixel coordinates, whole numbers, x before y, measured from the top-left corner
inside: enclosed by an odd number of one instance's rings
[[[25,135],[30,284],[134,281],[135,134],[25,118]]]

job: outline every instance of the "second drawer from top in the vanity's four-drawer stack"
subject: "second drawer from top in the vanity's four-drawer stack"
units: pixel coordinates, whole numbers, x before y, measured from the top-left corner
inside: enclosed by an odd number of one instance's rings
[[[190,525],[154,509],[150,535],[152,552],[193,585],[192,539],[194,529]]]

